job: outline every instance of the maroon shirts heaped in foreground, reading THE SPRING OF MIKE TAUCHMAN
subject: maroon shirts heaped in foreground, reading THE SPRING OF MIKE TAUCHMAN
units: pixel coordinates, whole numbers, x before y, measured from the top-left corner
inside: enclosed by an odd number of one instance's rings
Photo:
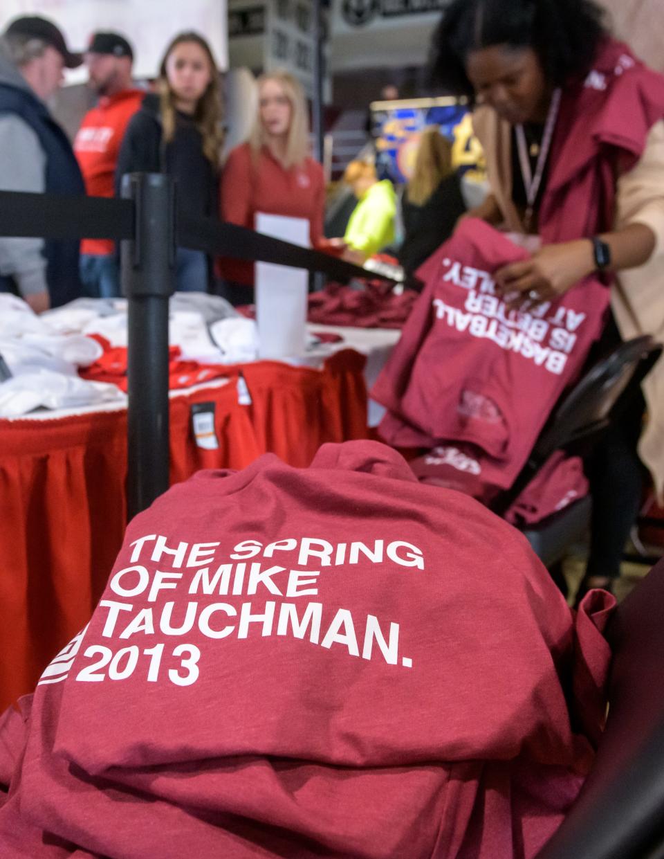
[[[4,725],[0,856],[534,856],[592,762],[612,608],[575,618],[377,442],[200,472]]]

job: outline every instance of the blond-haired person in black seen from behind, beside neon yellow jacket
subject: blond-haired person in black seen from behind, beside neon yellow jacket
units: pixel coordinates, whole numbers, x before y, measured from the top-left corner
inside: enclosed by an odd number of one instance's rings
[[[452,167],[452,144],[438,125],[430,125],[420,137],[413,176],[401,198],[399,262],[407,275],[450,238],[465,210],[461,179]]]

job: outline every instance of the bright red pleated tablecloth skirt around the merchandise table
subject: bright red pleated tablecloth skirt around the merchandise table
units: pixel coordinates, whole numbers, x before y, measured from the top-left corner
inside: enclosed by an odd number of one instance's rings
[[[323,442],[364,438],[365,357],[322,370],[258,362],[171,400],[171,480],[200,468],[244,468],[267,451],[308,466]],[[197,447],[190,407],[214,402],[219,448]],[[0,421],[0,711],[32,691],[45,665],[87,622],[122,543],[125,411]]]

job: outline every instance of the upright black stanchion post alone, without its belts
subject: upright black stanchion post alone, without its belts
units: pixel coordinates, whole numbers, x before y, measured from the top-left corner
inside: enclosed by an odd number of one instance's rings
[[[175,192],[164,174],[127,174],[134,239],[121,245],[129,302],[127,506],[131,516],[168,489],[168,299],[175,290]]]

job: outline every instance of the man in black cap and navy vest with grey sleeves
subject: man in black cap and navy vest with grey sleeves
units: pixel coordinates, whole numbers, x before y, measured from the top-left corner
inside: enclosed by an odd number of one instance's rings
[[[81,65],[55,24],[16,18],[0,40],[0,189],[82,195],[71,144],[45,101],[63,68]],[[36,312],[81,294],[79,242],[0,237],[0,291],[21,295]]]

